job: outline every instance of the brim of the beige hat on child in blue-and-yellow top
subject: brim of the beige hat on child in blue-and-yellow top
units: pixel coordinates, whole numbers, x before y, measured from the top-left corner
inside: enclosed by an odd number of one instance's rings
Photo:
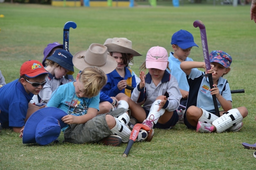
[[[125,54],[132,54],[133,56],[141,56],[140,53],[138,53],[132,48],[126,48],[113,43],[105,44],[105,46],[107,47],[108,52],[125,53]]]

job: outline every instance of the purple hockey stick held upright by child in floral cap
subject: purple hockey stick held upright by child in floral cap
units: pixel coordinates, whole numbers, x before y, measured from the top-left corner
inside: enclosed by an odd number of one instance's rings
[[[209,51],[208,51],[208,45],[207,45],[207,37],[206,37],[205,26],[204,26],[203,22],[200,21],[200,20],[194,21],[193,26],[195,28],[199,27],[199,29],[200,29],[203,55],[204,55],[204,62],[205,62],[205,65],[206,65],[206,69],[210,70],[211,69],[211,63],[210,63],[210,58],[209,58]],[[205,74],[205,76],[208,76],[210,89],[212,89],[213,88],[212,74]],[[216,113],[216,115],[219,116],[219,108],[218,108],[216,95],[212,95],[212,100],[213,100],[213,104],[214,104],[215,113]]]

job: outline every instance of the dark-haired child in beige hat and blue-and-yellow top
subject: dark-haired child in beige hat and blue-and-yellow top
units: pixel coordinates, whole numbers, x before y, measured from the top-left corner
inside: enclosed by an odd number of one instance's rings
[[[109,96],[124,93],[131,97],[132,91],[126,87],[127,85],[136,87],[137,83],[134,72],[127,67],[129,63],[133,62],[134,56],[141,56],[141,54],[132,49],[132,41],[127,38],[107,39],[104,45],[109,54],[116,60],[117,67],[107,74],[107,84],[102,88],[102,91]]]

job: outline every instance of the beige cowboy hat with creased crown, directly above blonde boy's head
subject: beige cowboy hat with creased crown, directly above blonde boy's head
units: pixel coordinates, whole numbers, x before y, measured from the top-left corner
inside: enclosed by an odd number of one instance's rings
[[[108,55],[107,47],[97,43],[91,44],[88,50],[77,52],[73,56],[73,64],[79,70],[90,66],[97,66],[106,74],[112,72],[117,67],[115,59]]]

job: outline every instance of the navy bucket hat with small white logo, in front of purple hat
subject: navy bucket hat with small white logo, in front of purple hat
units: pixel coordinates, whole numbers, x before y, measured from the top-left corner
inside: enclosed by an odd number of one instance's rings
[[[67,72],[69,75],[74,74],[74,65],[72,59],[73,55],[64,49],[57,49],[52,56],[47,58],[47,60],[51,60],[59,64],[61,67],[69,70],[69,72]]]

